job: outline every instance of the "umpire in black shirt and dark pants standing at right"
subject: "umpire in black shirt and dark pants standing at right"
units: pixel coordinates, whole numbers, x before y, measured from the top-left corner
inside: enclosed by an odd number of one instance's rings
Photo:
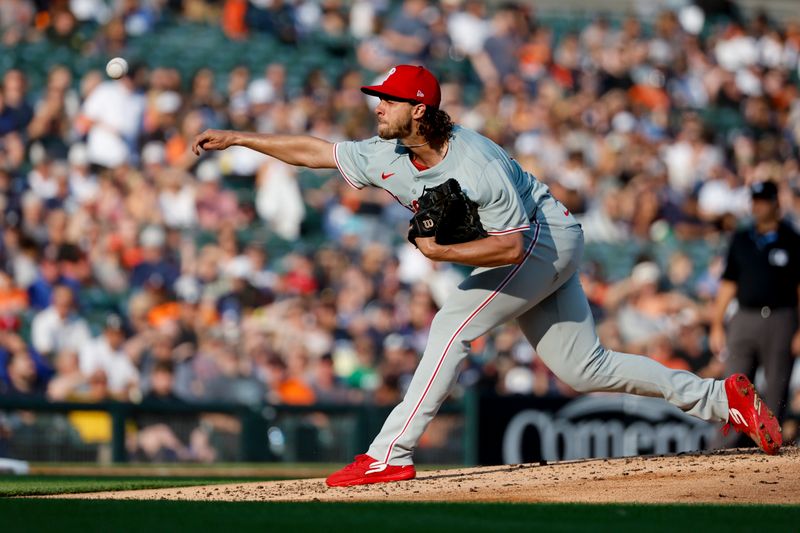
[[[711,349],[727,345],[725,372],[741,372],[751,380],[761,365],[766,378],[764,400],[779,420],[786,414],[792,351],[800,345],[800,235],[781,221],[778,188],[771,181],[750,187],[753,222],[737,231],[711,319]],[[733,299],[738,309],[724,320]],[[726,342],[727,341],[727,342]],[[727,442],[732,444],[732,442]]]

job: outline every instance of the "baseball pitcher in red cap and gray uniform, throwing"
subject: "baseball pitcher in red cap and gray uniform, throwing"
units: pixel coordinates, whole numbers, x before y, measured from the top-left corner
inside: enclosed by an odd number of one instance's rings
[[[207,130],[195,154],[238,145],[292,165],[338,168],[351,186],[387,190],[414,212],[408,238],[426,257],[475,267],[436,314],[403,401],[367,453],[328,477],[329,486],[412,479],[414,448],[447,397],[470,342],[517,319],[547,366],[577,391],[662,397],[683,411],[726,422],[766,453],[780,425],[741,374],[724,381],[670,370],[600,345],[576,270],[583,231],[534,176],[482,135],[439,109],[441,91],[423,67],[399,65],[381,85],[378,135],[336,144],[302,135]]]

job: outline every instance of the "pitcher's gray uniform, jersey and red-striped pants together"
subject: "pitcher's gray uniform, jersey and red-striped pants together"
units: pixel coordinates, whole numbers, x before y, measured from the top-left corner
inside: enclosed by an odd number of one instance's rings
[[[412,463],[414,447],[447,397],[469,343],[515,318],[537,355],[577,391],[663,397],[705,420],[727,420],[722,381],[600,345],[576,274],[583,252],[580,225],[495,143],[456,127],[445,158],[423,171],[398,141],[377,137],[338,143],[334,157],[350,185],[385,189],[412,210],[423,187],[455,178],[478,203],[490,235],[524,232],[525,237],[521,264],[476,268],[434,317],[406,395],[367,452],[378,463]]]

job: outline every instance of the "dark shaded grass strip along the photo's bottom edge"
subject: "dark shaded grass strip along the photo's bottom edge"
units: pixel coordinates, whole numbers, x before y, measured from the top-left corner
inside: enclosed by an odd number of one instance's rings
[[[800,507],[0,500],[5,531],[796,531]]]

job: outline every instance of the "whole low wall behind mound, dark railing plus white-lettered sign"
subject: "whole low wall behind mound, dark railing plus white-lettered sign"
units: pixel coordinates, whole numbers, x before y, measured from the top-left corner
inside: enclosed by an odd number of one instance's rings
[[[338,463],[390,406],[68,403],[0,398],[0,457],[85,463]],[[708,449],[718,431],[653,398],[470,392],[445,404],[420,464],[516,464]]]

